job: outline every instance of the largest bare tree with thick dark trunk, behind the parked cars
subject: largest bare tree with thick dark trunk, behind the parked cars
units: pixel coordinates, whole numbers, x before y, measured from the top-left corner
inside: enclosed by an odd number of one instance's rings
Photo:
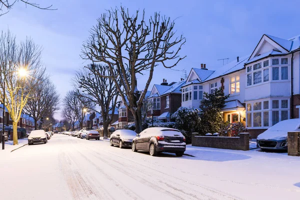
[[[91,29],[89,39],[83,44],[82,58],[104,62],[111,75],[101,74],[114,80],[125,106],[132,112],[136,132],[142,130],[141,107],[154,67],[175,66],[183,57],[178,55],[185,38],[175,36],[174,21],[155,12],[148,23],[144,11],[129,14],[124,7],[101,14]],[[142,92],[136,89],[136,74],[149,71]],[[129,73],[127,77],[125,74]],[[117,81],[120,78],[120,81]],[[123,92],[124,91],[124,92]],[[128,99],[128,100],[127,100]]]

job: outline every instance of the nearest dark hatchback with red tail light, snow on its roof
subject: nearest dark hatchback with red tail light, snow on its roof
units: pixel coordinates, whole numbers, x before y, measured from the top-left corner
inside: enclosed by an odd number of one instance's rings
[[[132,151],[144,150],[150,155],[158,152],[171,152],[182,156],[185,151],[185,137],[174,128],[150,127],[136,134],[132,140]]]

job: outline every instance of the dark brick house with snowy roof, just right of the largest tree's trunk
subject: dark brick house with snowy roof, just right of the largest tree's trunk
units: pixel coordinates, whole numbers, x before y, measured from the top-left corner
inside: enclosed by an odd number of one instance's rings
[[[169,121],[170,115],[181,106],[181,86],[185,80],[167,83],[163,78],[160,84],[154,84],[147,100],[152,103],[152,109],[148,111],[147,117],[161,121]]]

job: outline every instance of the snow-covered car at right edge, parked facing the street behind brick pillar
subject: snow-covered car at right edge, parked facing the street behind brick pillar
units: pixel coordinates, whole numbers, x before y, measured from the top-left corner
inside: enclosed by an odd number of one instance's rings
[[[256,138],[261,149],[287,149],[287,132],[300,130],[300,118],[279,121]]]

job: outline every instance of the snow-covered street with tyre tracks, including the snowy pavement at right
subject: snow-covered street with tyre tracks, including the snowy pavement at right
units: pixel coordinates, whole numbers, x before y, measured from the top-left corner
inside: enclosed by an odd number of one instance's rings
[[[197,152],[198,151],[198,152]],[[153,157],[54,134],[0,151],[0,199],[298,199],[300,158],[189,147]]]

